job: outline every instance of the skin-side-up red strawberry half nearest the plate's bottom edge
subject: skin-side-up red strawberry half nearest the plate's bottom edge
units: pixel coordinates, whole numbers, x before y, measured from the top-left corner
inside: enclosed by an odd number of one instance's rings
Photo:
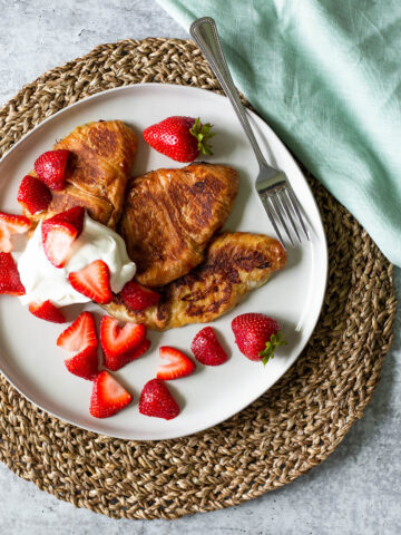
[[[160,379],[151,379],[145,385],[140,392],[139,412],[146,416],[172,420],[179,415],[179,407],[168,391],[165,382],[160,381]]]

